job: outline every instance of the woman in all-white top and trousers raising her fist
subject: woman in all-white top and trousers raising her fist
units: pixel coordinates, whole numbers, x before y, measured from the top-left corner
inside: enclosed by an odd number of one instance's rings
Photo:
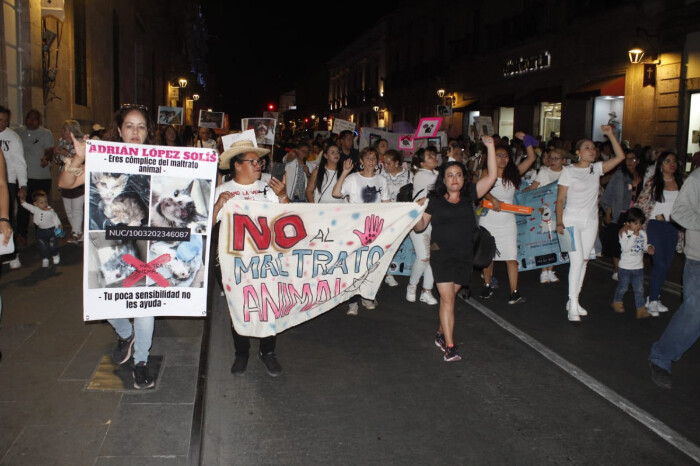
[[[566,308],[571,322],[579,322],[580,316],[588,315],[579,304],[578,297],[586,276],[588,257],[598,236],[600,177],[625,160],[625,151],[615,139],[612,127],[603,125],[600,129],[610,140],[615,157],[605,162],[596,162],[595,143],[590,139],[582,139],[576,144],[578,162],[564,167],[559,177],[557,233],[563,235],[565,227],[572,227],[576,248],[569,252],[569,301]]]

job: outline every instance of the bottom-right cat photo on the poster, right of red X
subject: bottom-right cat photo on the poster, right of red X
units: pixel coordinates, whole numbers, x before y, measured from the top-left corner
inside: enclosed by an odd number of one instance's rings
[[[148,248],[148,260],[153,261],[163,254],[170,255],[170,261],[156,268],[175,287],[204,287],[204,244],[206,237],[192,235],[189,241],[154,241]],[[148,286],[157,284],[148,279]]]

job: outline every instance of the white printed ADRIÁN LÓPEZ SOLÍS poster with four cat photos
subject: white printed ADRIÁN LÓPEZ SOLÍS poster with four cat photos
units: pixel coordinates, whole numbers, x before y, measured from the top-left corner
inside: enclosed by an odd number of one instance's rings
[[[85,320],[206,315],[211,149],[91,140],[85,162]]]

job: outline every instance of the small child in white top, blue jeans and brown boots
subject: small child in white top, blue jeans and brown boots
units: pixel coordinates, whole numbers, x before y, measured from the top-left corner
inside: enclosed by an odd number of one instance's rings
[[[615,312],[625,312],[622,298],[631,284],[634,291],[634,305],[637,308],[637,319],[651,317],[644,299],[644,253],[653,255],[654,245],[647,244],[647,234],[643,230],[644,221],[644,212],[633,207],[627,212],[627,221],[620,229],[622,253],[618,271],[619,282],[612,303]]]

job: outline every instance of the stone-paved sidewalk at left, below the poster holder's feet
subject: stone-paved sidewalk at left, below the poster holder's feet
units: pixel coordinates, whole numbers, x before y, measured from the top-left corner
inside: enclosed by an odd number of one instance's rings
[[[62,246],[41,269],[3,266],[0,464],[187,464],[203,320],[156,320],[151,355],[163,357],[154,390],[86,389],[116,337],[82,319],[82,248]]]

